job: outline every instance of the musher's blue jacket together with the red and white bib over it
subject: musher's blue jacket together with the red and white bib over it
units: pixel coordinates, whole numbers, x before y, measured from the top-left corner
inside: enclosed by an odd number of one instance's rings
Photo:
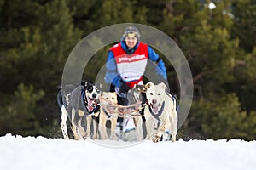
[[[157,62],[156,73],[167,80],[166,66],[148,44],[137,42],[135,48],[129,49],[125,42],[119,42],[108,51],[105,82],[120,88],[126,83],[130,88],[136,84],[143,84],[148,59]]]

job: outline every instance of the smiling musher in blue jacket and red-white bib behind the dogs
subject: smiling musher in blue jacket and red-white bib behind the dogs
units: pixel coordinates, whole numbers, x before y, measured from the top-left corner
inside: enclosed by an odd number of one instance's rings
[[[157,82],[165,82],[168,87],[166,66],[163,60],[148,44],[140,42],[140,33],[136,27],[125,28],[121,41],[108,51],[105,76],[105,82],[110,86],[110,91],[115,91],[118,94],[119,105],[128,105],[126,94],[129,89],[134,88],[137,84],[143,85],[143,75],[148,60],[155,65]],[[143,102],[146,101],[145,94],[143,100]],[[122,122],[122,120],[119,118],[118,122]],[[132,122],[125,122],[125,124],[124,131],[134,128]]]

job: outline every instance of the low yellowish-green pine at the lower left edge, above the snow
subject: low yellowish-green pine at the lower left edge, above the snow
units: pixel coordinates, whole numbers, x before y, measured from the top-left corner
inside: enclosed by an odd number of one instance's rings
[[[38,135],[41,127],[34,111],[42,97],[43,90],[35,91],[32,85],[27,87],[20,83],[14,97],[6,106],[0,107],[0,134]]]

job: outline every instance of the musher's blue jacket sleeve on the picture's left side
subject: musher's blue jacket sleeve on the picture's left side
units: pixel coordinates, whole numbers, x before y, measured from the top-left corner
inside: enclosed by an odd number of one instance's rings
[[[105,82],[113,84],[116,87],[121,86],[121,77],[117,73],[116,62],[112,51],[108,51],[108,59],[106,63],[106,75],[104,77]]]

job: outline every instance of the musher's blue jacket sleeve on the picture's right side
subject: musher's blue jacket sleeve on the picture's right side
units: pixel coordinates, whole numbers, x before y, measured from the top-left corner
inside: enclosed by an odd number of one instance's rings
[[[152,48],[148,46],[148,59],[157,61],[159,59],[159,55],[154,52]],[[166,65],[162,59],[158,61],[158,65],[155,67],[155,71],[158,76],[164,77],[167,80],[167,73],[166,73]]]

